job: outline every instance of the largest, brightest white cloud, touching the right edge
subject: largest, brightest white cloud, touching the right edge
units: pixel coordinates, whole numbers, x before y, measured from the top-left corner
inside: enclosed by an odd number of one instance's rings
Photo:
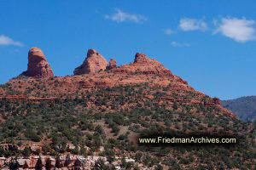
[[[214,20],[218,28],[213,33],[220,32],[225,37],[230,37],[236,42],[247,42],[256,40],[255,20],[245,18],[222,18],[221,22]]]

